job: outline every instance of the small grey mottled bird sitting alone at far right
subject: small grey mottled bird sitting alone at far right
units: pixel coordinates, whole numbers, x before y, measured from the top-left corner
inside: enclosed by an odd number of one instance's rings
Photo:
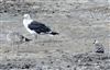
[[[105,52],[105,47],[101,43],[99,43],[99,40],[95,39],[94,44],[95,44],[95,52],[98,52],[98,54]]]

